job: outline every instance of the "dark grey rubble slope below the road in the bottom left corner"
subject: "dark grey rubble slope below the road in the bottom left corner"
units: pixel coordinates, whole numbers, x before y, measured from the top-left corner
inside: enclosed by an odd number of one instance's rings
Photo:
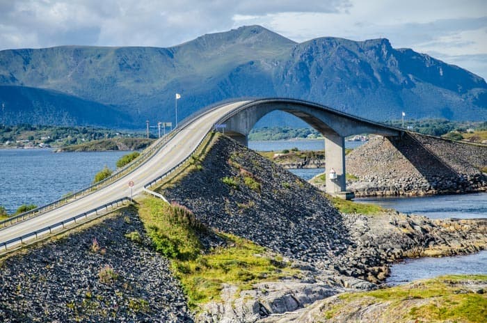
[[[125,235],[137,231],[133,242]],[[1,259],[0,322],[192,322],[134,208]]]

